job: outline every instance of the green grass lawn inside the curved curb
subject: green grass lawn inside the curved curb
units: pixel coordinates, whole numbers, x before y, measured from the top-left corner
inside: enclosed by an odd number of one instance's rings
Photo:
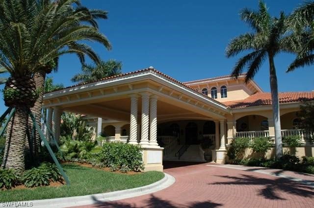
[[[164,177],[162,172],[121,174],[88,168],[77,164],[63,164],[71,185],[40,186],[31,189],[0,190],[0,202],[51,199],[105,193],[149,185]]]

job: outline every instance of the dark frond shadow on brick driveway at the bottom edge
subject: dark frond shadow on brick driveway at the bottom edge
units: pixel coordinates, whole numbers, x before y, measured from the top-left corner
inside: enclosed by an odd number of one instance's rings
[[[212,203],[210,201],[206,202],[195,202],[188,205],[174,205],[170,201],[162,200],[154,194],[150,195],[150,198],[143,201],[143,204],[140,206],[136,206],[135,204],[129,204],[125,202],[100,202],[97,199],[93,198],[95,204],[93,205],[94,208],[218,208],[222,206],[222,204]]]

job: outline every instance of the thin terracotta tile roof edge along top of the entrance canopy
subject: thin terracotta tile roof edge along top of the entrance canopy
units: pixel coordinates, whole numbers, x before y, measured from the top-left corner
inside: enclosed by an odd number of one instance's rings
[[[171,79],[171,80],[174,81],[174,82],[179,83],[180,85],[183,85],[184,87],[186,87],[186,88],[188,88],[188,89],[190,89],[190,90],[193,90],[194,92],[197,92],[199,95],[202,95],[203,97],[206,97],[206,98],[210,99],[211,101],[213,101],[213,102],[215,102],[215,103],[217,103],[217,104],[219,104],[219,105],[222,105],[222,106],[224,106],[224,107],[228,107],[228,106],[226,106],[225,104],[223,104],[222,102],[219,102],[219,101],[217,101],[217,100],[215,100],[215,99],[213,99],[213,98],[211,98],[211,97],[209,97],[209,96],[204,95],[202,92],[198,92],[198,90],[196,90],[196,89],[194,89],[194,88],[192,88],[192,87],[189,87],[189,86],[185,85],[183,82],[180,82],[180,81],[178,81],[178,80],[172,78],[171,76],[168,76],[167,74],[164,74],[164,73],[162,73],[162,72],[160,72],[160,71],[158,71],[158,70],[156,70],[156,69],[151,69],[151,68],[146,68],[146,69],[131,71],[131,72],[128,72],[128,73],[118,74],[118,75],[115,75],[115,76],[104,77],[104,78],[99,79],[99,80],[94,81],[94,82],[83,82],[83,83],[79,83],[79,84],[72,85],[72,86],[69,86],[69,87],[65,87],[65,88],[63,88],[63,89],[61,89],[61,90],[55,90],[55,91],[62,91],[62,90],[64,90],[64,89],[68,89],[68,88],[73,88],[73,87],[77,87],[77,86],[81,86],[81,85],[86,85],[86,84],[90,84],[90,83],[95,83],[95,82],[100,82],[100,81],[104,81],[104,80],[114,79],[114,78],[116,78],[116,77],[123,77],[123,76],[127,76],[127,75],[130,75],[130,74],[136,74],[136,73],[140,73],[140,72],[144,72],[144,71],[154,71],[154,72],[156,72],[156,73],[158,73],[158,74],[160,74],[160,75],[162,75],[162,76],[164,76],[164,77],[166,77],[166,78],[168,78],[168,79]],[[51,91],[51,92],[55,92],[55,91]],[[47,92],[47,93],[48,93],[48,92]]]

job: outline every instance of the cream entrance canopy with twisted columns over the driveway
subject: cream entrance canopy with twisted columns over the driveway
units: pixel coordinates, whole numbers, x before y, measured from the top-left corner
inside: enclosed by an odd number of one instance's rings
[[[157,142],[157,123],[211,120],[215,123],[216,130],[220,128],[220,133],[216,131],[215,134],[218,149],[222,152],[226,149],[226,115],[230,109],[155,69],[50,92],[44,96],[44,105],[48,110],[47,123],[52,127],[55,139],[60,136],[63,111],[97,117],[97,133],[107,133],[108,141],[142,146],[145,171],[162,171],[163,147]],[[116,122],[104,125],[105,119],[102,118]],[[198,135],[199,132],[196,133]],[[213,139],[212,134],[203,135]]]

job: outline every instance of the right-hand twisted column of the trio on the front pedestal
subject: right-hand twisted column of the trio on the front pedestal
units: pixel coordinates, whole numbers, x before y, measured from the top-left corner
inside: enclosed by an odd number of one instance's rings
[[[151,96],[150,100],[150,145],[158,146],[157,143],[157,96]]]

